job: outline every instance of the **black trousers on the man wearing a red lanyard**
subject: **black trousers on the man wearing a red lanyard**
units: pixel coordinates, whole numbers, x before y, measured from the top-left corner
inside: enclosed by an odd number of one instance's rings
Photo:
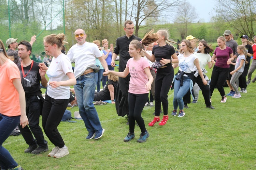
[[[37,95],[26,97],[26,115],[29,124],[25,128],[19,125],[19,130],[29,146],[46,147],[47,141],[44,140],[43,131],[39,126],[40,112],[43,106],[43,102],[40,100]]]

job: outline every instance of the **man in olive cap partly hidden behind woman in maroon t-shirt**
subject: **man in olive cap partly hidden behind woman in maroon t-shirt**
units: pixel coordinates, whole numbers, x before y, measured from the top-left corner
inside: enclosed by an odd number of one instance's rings
[[[231,31],[230,30],[226,30],[223,35],[225,36],[225,39],[226,39],[226,46],[230,47],[233,51],[233,54],[234,54],[234,60],[232,61],[232,63],[236,63],[237,56],[238,56],[237,41],[235,41],[231,38]],[[235,67],[235,65],[232,65],[232,64],[229,65],[229,73],[231,71],[234,71],[234,67]],[[232,75],[228,74],[227,84],[228,84],[228,87],[230,88],[230,92],[226,96],[234,96],[234,94],[236,94],[236,92],[234,91],[233,87],[230,84],[231,77],[232,77]]]

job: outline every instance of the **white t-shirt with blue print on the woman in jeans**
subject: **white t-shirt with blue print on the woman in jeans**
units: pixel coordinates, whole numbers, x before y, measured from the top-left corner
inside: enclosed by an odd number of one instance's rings
[[[188,57],[184,57],[183,54],[178,55],[179,59],[179,70],[185,73],[190,73],[195,71],[194,70],[194,61],[196,60],[197,56],[195,54],[191,54]]]

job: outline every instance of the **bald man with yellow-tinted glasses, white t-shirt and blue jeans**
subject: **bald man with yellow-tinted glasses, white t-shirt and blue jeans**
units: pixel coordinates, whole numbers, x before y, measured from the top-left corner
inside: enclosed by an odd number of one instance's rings
[[[87,35],[83,29],[77,29],[74,34],[77,43],[70,48],[67,56],[71,62],[75,62],[75,96],[79,113],[89,132],[86,139],[94,138],[96,140],[102,137],[105,130],[101,127],[98,113],[93,104],[96,81],[95,73],[91,66],[95,65],[96,57],[106,71],[108,70],[108,65],[102,57],[98,46],[86,41]]]

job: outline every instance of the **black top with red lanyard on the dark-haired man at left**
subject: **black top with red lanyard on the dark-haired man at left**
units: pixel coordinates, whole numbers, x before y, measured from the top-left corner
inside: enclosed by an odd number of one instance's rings
[[[41,96],[42,92],[40,87],[41,76],[39,73],[39,66],[38,66],[39,64],[37,62],[34,62],[32,68],[31,68],[32,63],[27,67],[23,67],[24,75],[26,75],[29,72],[28,75],[25,77],[25,79],[23,78],[23,73],[22,73],[20,64],[21,63],[18,63],[17,66],[19,68],[21,83],[26,96],[31,96],[31,95]]]

